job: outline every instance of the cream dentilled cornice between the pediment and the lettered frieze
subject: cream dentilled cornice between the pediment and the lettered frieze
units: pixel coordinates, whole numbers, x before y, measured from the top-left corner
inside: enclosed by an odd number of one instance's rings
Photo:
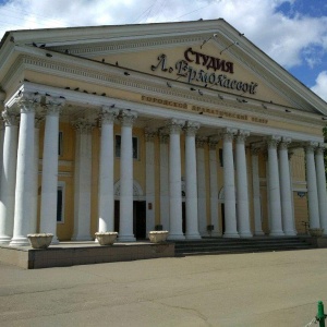
[[[60,55],[62,56],[62,55]],[[11,71],[7,74],[3,86],[10,85],[11,74],[17,70],[29,69],[37,72],[44,72],[47,74],[90,83],[92,85],[104,85],[107,87],[113,87],[118,89],[124,89],[138,94],[154,95],[162,98],[183,100],[187,104],[216,108],[221,110],[232,110],[234,113],[249,114],[255,113],[257,117],[274,119],[281,122],[294,122],[294,114],[284,112],[283,107],[281,110],[268,110],[263,109],[262,101],[249,100],[249,104],[238,102],[237,96],[228,95],[223,99],[218,98],[218,90],[203,89],[205,95],[201,96],[197,93],[190,92],[190,84],[177,83],[174,81],[174,87],[168,88],[166,81],[162,77],[149,75],[141,72],[133,72],[129,77],[123,75],[123,70],[120,68],[104,65],[99,62],[87,60],[75,60],[69,56],[62,56],[65,60],[49,60],[46,58],[37,58],[28,55],[21,56]],[[33,82],[33,81],[32,81]],[[5,84],[7,83],[7,84]],[[64,88],[65,85],[63,85]],[[219,94],[222,94],[219,90]],[[274,110],[274,111],[272,111]],[[296,111],[295,121],[302,125],[310,128],[316,128],[317,124],[324,125],[322,121],[317,120],[317,116]]]

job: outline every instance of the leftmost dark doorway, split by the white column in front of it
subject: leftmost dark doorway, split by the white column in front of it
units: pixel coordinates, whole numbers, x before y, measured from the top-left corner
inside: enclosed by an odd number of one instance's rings
[[[114,231],[119,232],[120,202],[114,202]],[[133,202],[133,234],[136,239],[146,238],[146,202]]]

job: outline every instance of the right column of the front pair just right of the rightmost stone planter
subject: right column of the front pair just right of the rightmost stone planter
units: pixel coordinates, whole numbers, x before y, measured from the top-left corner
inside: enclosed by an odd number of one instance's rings
[[[197,179],[195,133],[199,124],[187,121],[185,131],[185,207],[186,207],[186,239],[201,239],[197,221]]]

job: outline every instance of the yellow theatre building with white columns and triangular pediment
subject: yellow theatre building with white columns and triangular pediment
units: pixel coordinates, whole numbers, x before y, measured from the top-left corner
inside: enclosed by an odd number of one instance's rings
[[[327,234],[327,105],[221,19],[8,32],[0,86],[1,244]]]

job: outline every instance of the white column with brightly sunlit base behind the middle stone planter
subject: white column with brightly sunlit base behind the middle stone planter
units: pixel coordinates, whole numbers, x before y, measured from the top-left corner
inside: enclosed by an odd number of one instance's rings
[[[118,112],[104,107],[100,113],[101,138],[99,162],[99,232],[114,230],[114,152],[113,152],[113,123]]]

